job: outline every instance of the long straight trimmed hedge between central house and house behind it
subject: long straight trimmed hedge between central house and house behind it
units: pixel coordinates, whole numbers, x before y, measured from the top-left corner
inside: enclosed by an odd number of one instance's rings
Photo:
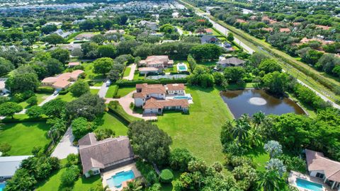
[[[137,81],[117,81],[119,87],[136,86],[138,83],[166,84],[166,83],[187,83],[188,79],[159,79],[159,80],[137,80]]]

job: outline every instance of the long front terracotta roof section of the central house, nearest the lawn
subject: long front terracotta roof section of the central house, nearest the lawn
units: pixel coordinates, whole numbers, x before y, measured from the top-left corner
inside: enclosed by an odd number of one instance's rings
[[[157,100],[155,98],[149,98],[143,109],[163,109],[164,107],[171,107],[171,106],[181,106],[182,108],[188,108],[189,103],[186,99],[178,99],[178,100]]]

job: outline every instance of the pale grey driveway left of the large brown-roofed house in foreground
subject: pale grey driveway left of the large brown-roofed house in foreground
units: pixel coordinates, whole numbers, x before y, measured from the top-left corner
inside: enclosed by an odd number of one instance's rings
[[[78,147],[73,146],[73,141],[74,136],[72,134],[72,128],[69,127],[60,140],[59,144],[55,147],[55,151],[53,151],[51,156],[63,159],[67,158],[69,154],[78,154]]]

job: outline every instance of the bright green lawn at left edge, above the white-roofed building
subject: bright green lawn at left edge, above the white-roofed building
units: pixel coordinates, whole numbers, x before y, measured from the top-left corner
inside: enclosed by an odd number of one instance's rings
[[[34,146],[44,147],[49,142],[48,129],[45,122],[8,123],[0,130],[0,144],[12,146],[11,156],[30,155]]]

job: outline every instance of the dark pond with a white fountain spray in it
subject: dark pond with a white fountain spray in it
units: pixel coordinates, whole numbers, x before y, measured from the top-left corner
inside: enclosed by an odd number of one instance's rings
[[[248,113],[251,116],[258,111],[262,111],[266,115],[281,115],[288,112],[305,114],[304,110],[293,100],[275,98],[262,90],[222,91],[220,95],[235,118],[240,117],[244,113]]]

